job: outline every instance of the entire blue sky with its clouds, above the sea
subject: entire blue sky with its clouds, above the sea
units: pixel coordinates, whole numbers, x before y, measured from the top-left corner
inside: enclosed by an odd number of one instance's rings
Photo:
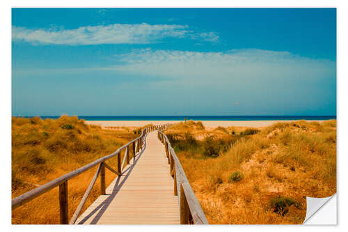
[[[13,8],[12,72],[15,116],[332,116],[336,10]]]

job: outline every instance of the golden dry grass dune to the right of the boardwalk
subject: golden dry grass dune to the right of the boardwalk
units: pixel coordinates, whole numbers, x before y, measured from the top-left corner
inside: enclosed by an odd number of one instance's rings
[[[180,137],[190,132],[196,138],[207,133],[192,126],[183,129],[166,133]],[[335,120],[276,123],[257,134],[246,128],[226,130],[209,132],[235,139],[219,157],[177,150],[210,224],[301,224],[306,196],[336,192]]]

